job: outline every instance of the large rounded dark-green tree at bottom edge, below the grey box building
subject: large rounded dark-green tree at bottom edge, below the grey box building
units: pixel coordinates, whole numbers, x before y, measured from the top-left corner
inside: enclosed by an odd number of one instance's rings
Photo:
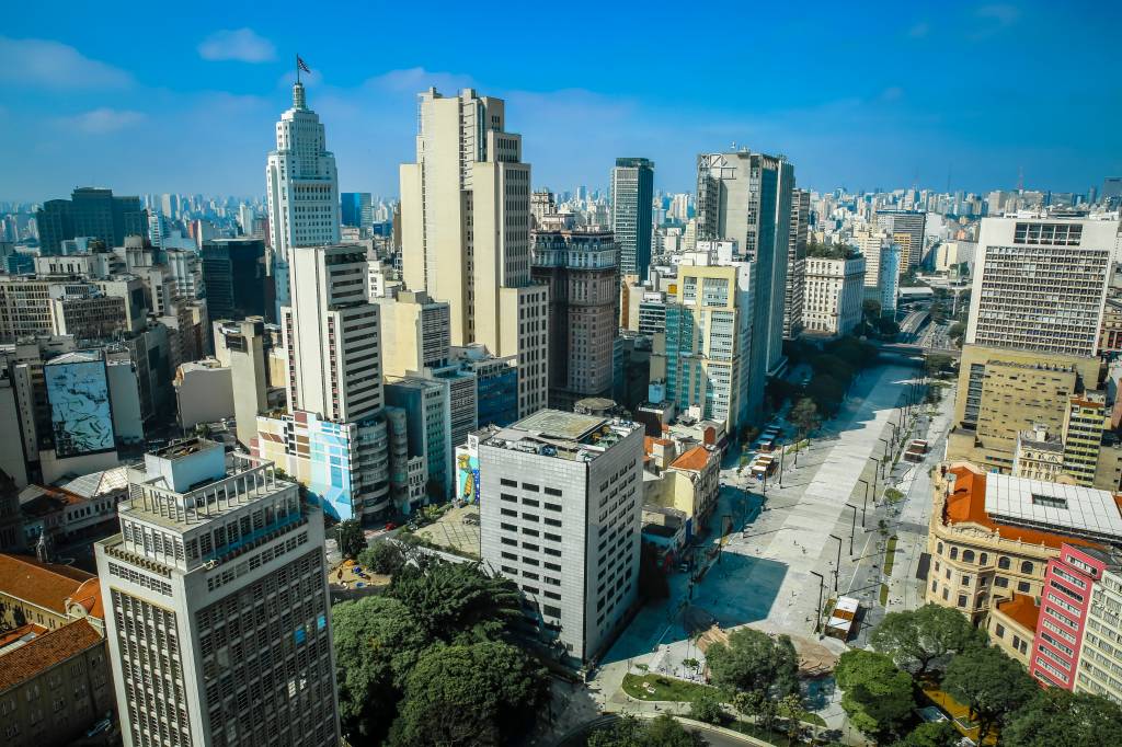
[[[436,645],[405,677],[389,744],[512,744],[548,700],[546,671],[514,646],[493,640]]]

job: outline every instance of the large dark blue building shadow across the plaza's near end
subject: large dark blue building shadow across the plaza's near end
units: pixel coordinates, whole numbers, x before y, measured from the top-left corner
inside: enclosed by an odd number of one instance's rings
[[[696,637],[709,624],[728,629],[767,618],[776,605],[787,563],[725,552],[692,591],[674,584],[669,600],[646,605],[601,660],[603,664],[652,653],[659,645]]]

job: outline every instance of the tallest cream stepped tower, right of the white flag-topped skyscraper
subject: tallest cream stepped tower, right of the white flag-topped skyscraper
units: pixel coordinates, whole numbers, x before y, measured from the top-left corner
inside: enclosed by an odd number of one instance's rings
[[[403,164],[405,285],[447,301],[453,345],[518,361],[518,412],[545,406],[548,289],[531,282],[530,165],[502,99],[419,96],[416,163]]]

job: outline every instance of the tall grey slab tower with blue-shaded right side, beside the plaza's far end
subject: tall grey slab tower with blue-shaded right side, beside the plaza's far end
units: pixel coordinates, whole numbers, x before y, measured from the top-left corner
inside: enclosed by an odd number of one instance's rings
[[[732,240],[753,262],[752,380],[762,388],[783,365],[783,308],[794,167],[782,156],[742,149],[698,156],[697,238]],[[755,385],[754,385],[755,386]],[[762,396],[754,403],[762,403]],[[748,413],[760,417],[760,406]]]

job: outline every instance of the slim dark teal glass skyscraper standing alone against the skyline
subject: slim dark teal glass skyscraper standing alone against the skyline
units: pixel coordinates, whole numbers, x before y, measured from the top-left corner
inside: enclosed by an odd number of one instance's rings
[[[654,162],[616,158],[611,169],[611,230],[619,246],[619,271],[646,279],[651,267],[651,209],[654,200]]]

